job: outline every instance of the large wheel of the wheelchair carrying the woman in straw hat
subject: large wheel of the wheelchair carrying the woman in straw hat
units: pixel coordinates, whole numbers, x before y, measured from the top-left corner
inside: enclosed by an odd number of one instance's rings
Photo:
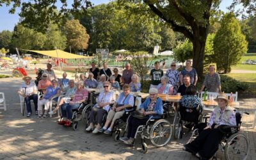
[[[248,138],[241,133],[235,133],[228,138],[225,145],[225,159],[246,159],[249,153]]]

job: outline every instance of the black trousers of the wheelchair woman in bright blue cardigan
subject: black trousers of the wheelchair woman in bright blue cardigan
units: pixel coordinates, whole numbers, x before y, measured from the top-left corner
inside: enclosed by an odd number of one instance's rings
[[[133,116],[130,116],[128,119],[128,132],[127,138],[134,138],[136,131],[140,125],[145,125],[147,123],[148,118],[138,119]]]

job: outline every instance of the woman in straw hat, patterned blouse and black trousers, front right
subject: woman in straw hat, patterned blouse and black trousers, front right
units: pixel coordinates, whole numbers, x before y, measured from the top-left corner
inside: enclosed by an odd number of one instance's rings
[[[195,140],[184,145],[184,150],[195,154],[201,159],[210,159],[218,150],[218,145],[225,135],[225,126],[236,125],[236,115],[228,106],[228,98],[225,94],[218,95],[218,106],[212,111],[209,123],[201,128]],[[227,130],[227,129],[226,129]]]

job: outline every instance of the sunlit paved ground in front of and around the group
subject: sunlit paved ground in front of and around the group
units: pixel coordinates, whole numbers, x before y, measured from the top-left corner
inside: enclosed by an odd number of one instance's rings
[[[20,114],[17,88],[20,78],[0,79],[0,92],[4,92],[7,111],[0,110],[0,159],[196,159],[182,151],[188,140],[173,140],[166,147],[156,148],[148,142],[148,153],[141,153],[140,140],[135,148],[104,134],[83,132],[83,123],[78,130],[56,124],[58,118],[26,118]],[[241,110],[253,113],[255,99],[243,99]],[[34,113],[33,113],[34,114]],[[250,140],[250,155],[256,157],[256,129],[252,129],[253,115],[243,116],[242,132]],[[220,152],[221,154],[221,152]],[[219,154],[219,155],[220,155]]]

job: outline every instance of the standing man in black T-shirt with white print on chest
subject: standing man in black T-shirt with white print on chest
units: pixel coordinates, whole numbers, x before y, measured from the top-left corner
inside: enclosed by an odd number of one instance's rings
[[[150,71],[151,84],[150,88],[157,88],[157,85],[161,83],[161,77],[164,75],[163,70],[160,69],[159,61],[154,63],[155,68]]]

